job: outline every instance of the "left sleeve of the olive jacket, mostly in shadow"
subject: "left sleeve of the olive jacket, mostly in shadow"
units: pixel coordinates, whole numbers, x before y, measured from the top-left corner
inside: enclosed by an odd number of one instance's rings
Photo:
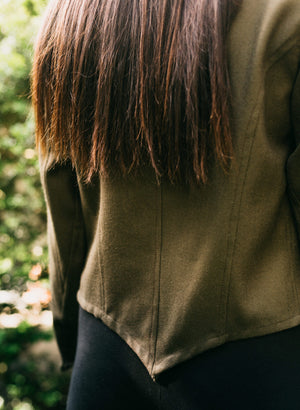
[[[61,370],[75,357],[78,327],[76,293],[86,258],[85,229],[77,176],[71,164],[40,157],[41,181],[47,206],[51,310]]]

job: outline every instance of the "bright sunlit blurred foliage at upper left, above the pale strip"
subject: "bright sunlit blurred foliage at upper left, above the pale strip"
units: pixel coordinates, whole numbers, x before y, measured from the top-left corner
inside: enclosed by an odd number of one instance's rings
[[[24,290],[46,266],[45,210],[30,108],[33,41],[44,0],[0,0],[0,286]]]

